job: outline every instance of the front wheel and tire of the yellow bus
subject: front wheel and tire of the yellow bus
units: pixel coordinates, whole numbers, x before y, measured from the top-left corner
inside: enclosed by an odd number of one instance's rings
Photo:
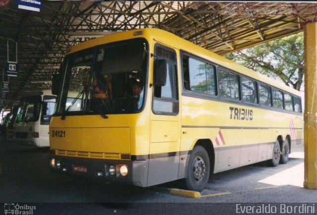
[[[186,168],[185,182],[187,188],[193,191],[204,190],[210,175],[210,160],[207,151],[202,146],[196,146],[190,154]]]

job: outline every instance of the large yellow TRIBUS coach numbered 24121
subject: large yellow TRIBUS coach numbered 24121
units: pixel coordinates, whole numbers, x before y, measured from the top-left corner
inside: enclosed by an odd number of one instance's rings
[[[300,93],[159,29],[72,47],[50,123],[57,173],[147,187],[270,160],[303,144]]]

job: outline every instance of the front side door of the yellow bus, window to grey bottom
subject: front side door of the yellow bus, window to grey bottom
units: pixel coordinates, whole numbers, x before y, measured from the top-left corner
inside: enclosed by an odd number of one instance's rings
[[[166,68],[166,83],[153,86],[148,186],[178,179],[180,150],[176,52],[156,44],[154,55],[154,66]]]

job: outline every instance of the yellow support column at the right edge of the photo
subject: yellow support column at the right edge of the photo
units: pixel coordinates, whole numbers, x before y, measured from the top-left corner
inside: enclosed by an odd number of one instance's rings
[[[317,189],[317,22],[304,28],[304,187]]]

